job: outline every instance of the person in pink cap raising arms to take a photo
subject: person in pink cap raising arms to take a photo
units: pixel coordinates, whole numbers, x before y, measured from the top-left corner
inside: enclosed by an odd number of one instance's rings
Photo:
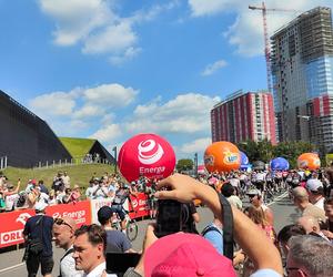
[[[158,184],[159,199],[175,199],[188,203],[201,199],[223,223],[222,206],[216,192],[210,186],[186,175],[175,174]],[[251,277],[281,277],[282,261],[278,248],[242,212],[232,207],[234,237],[243,252],[253,260],[255,273]],[[124,277],[234,277],[232,260],[220,255],[204,238],[195,234],[176,233],[159,238],[154,225],[149,225],[143,254],[134,268]]]

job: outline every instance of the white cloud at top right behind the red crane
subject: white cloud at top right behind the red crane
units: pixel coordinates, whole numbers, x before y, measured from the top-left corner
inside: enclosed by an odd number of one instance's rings
[[[189,0],[193,17],[209,17],[219,13],[234,13],[235,21],[224,32],[228,42],[235,47],[235,52],[244,57],[263,55],[263,20],[260,10],[250,10],[251,6],[261,6],[260,1],[243,0]],[[301,12],[317,6],[332,7],[332,0],[268,0],[268,9],[282,9],[286,11],[268,11],[269,35],[287,23]]]

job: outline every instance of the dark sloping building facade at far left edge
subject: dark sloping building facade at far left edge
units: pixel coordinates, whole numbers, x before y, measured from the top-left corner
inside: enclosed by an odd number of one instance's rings
[[[8,166],[33,167],[47,161],[71,160],[50,126],[2,91],[0,126],[0,157],[7,157]]]

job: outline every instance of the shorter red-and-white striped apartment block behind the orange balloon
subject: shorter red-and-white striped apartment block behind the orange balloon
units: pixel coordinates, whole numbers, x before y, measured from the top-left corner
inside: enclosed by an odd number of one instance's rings
[[[238,91],[211,110],[212,141],[233,143],[275,140],[273,96],[269,92]]]

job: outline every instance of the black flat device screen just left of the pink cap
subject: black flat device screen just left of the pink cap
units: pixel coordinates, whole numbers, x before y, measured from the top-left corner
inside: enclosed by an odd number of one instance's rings
[[[140,257],[139,253],[107,253],[107,273],[124,274],[138,265]]]

